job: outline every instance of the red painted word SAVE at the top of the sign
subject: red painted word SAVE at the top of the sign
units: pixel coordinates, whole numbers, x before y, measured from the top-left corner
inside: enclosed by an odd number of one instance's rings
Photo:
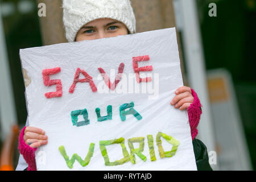
[[[150,60],[150,57],[148,55],[133,57],[133,69],[134,69],[134,73],[136,75],[136,81],[138,82],[138,84],[141,83],[141,82],[151,82],[152,81],[151,77],[141,78],[140,75],[139,75],[140,72],[147,72],[147,71],[152,71],[153,70],[152,65],[146,66],[146,67],[139,67],[138,66],[139,61],[148,61],[148,60]],[[101,73],[101,76],[104,78],[105,84],[109,87],[109,89],[110,90],[115,90],[117,84],[119,83],[119,81],[122,78],[122,73],[123,73],[124,68],[125,68],[125,64],[121,63],[119,65],[119,68],[118,68],[118,74],[115,77],[115,81],[113,83],[110,81],[109,76],[106,74],[106,72],[104,71],[103,68],[98,68],[98,71]],[[60,71],[61,71],[60,67],[51,68],[51,69],[44,69],[42,71],[44,85],[45,86],[56,85],[56,92],[45,93],[46,98],[62,97],[63,89],[62,89],[61,80],[59,80],[59,79],[50,80],[49,79],[50,75],[55,75],[56,73],[59,73]],[[80,75],[83,75],[84,78],[79,78]],[[88,82],[89,85],[90,85],[90,88],[92,89],[92,92],[97,92],[97,87],[93,82],[93,77],[91,77],[84,70],[82,70],[80,68],[77,68],[73,83],[69,88],[69,93],[72,94],[75,91],[76,84],[78,82],[81,82],[81,83]]]

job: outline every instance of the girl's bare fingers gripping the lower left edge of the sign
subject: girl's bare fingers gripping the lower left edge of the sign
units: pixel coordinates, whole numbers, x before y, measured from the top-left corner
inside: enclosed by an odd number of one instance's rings
[[[42,129],[27,126],[24,131],[23,139],[30,147],[38,148],[48,142],[48,138],[44,134],[45,132]]]

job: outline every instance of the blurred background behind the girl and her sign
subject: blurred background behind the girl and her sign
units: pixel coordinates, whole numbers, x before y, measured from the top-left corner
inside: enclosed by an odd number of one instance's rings
[[[43,14],[46,5],[46,16]],[[184,84],[215,170],[256,167],[256,0],[131,0],[137,32],[176,27]],[[27,119],[19,49],[67,42],[61,0],[0,0],[0,169],[18,164]]]

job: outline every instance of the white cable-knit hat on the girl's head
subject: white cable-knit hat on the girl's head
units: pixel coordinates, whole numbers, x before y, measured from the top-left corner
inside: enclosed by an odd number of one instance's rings
[[[77,32],[86,23],[99,18],[111,18],[136,32],[136,20],[130,0],[63,0],[63,23],[68,42],[74,42]]]

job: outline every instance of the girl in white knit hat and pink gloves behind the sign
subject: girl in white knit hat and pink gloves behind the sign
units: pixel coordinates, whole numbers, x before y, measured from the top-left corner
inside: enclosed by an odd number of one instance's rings
[[[134,34],[135,22],[130,0],[63,0],[63,23],[68,42]],[[181,86],[175,94],[170,106],[188,111],[197,169],[211,169],[206,147],[195,139],[201,115],[199,98],[187,86]],[[20,132],[19,151],[28,164],[27,170],[36,170],[35,151],[48,140],[42,129],[26,126]],[[17,169],[22,163],[26,166],[24,160],[20,158]]]

